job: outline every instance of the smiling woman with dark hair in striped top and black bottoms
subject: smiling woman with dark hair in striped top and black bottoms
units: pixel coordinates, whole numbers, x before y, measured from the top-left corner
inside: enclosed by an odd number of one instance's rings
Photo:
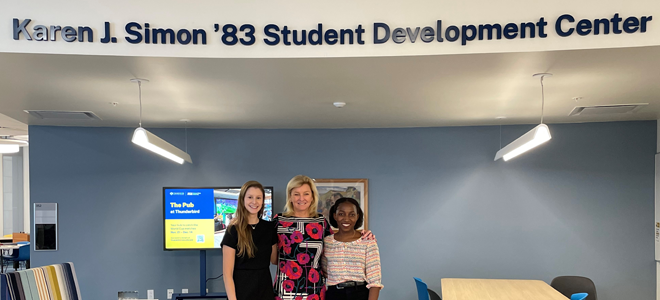
[[[375,240],[361,239],[356,230],[363,219],[353,198],[340,198],[330,209],[330,224],[339,231],[323,240],[328,300],[377,300],[383,288],[378,245]]]

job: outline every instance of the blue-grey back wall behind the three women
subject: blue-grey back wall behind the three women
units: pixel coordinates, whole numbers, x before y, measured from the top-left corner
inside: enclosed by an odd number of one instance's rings
[[[505,126],[506,144],[532,126]],[[493,162],[495,127],[345,130],[188,130],[194,164],[134,146],[130,128],[30,127],[32,202],[59,203],[57,252],[83,297],[199,289],[199,255],[162,250],[163,186],[275,186],[275,207],[297,174],[368,178],[381,299],[415,299],[413,276],[592,278],[599,298],[655,298],[656,122],[551,125],[553,139]],[[182,129],[154,133],[183,147]],[[221,273],[209,253],[208,275]],[[222,282],[210,285],[221,291]]]

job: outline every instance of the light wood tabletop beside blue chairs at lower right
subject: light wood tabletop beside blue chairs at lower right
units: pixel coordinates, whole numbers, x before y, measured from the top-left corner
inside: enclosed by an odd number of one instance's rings
[[[443,300],[568,300],[540,280],[443,278]]]

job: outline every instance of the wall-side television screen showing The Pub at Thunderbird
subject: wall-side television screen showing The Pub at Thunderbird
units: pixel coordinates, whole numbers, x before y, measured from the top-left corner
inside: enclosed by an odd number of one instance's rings
[[[273,187],[264,187],[264,214],[273,218]],[[220,249],[225,230],[236,213],[241,187],[163,188],[165,250]]]

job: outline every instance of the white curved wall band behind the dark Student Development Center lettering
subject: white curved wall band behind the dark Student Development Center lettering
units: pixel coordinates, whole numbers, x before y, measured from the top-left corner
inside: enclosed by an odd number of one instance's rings
[[[660,1],[528,1],[528,0],[273,0],[273,1],[215,1],[199,0],[194,5],[188,1],[145,0],[145,1],[85,1],[66,2],[34,0],[10,1],[0,10],[0,52],[14,53],[59,53],[122,56],[167,56],[167,57],[354,57],[354,56],[401,56],[437,55],[463,53],[529,52],[567,49],[598,49],[660,45]],[[646,33],[621,33],[608,35],[573,33],[561,37],[555,32],[555,22],[563,14],[575,17],[573,27],[580,19],[612,18],[619,13],[624,19],[629,16],[653,16],[657,20],[648,23]],[[443,21],[446,30],[450,25],[479,25],[500,23],[537,22],[544,17],[547,38],[514,38],[507,40],[474,40],[462,46],[458,42],[424,43],[417,38],[415,43],[396,44],[390,39],[384,44],[373,43],[373,24],[382,22],[391,29],[396,27],[415,30],[416,27],[436,26]],[[28,29],[35,25],[89,26],[95,32],[94,41],[65,42],[61,32],[56,41],[27,41],[13,39],[12,20],[30,18]],[[100,43],[104,35],[104,22],[111,23],[112,34],[117,43]],[[151,28],[204,29],[207,45],[154,45],[130,44],[125,25],[138,22]],[[252,24],[255,26],[256,42],[251,46],[226,46],[221,42],[222,30],[214,32],[214,24]],[[364,45],[304,45],[285,46],[282,43],[268,46],[264,27],[276,24],[289,29],[311,30],[322,23],[324,30],[356,28],[365,29]],[[565,24],[565,23],[562,23]],[[564,26],[568,28],[567,26]]]

